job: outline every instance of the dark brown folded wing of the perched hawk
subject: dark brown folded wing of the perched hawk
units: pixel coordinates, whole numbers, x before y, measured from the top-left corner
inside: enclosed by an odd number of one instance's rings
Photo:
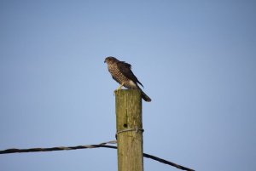
[[[131,64],[126,63],[125,61],[119,61],[117,63],[117,66],[119,68],[119,71],[122,72],[122,74],[125,75],[125,77],[128,77],[129,79],[131,79],[134,83],[139,83],[143,86],[142,83],[140,83],[137,79],[137,77],[133,74],[133,72],[131,71]]]

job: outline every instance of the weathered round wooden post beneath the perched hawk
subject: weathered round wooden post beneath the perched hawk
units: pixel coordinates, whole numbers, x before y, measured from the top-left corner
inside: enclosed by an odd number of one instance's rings
[[[115,92],[118,171],[143,171],[142,94],[137,89]]]

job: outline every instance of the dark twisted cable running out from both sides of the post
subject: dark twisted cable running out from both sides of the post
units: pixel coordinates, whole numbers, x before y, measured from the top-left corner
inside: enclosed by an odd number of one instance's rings
[[[116,144],[116,140],[108,141],[108,142],[103,142],[98,145],[78,145],[78,146],[57,146],[57,147],[51,147],[51,148],[30,148],[30,149],[7,149],[4,151],[0,151],[0,154],[9,154],[9,153],[21,153],[21,152],[40,152],[40,151],[70,151],[70,150],[78,150],[78,149],[86,149],[86,148],[111,148],[111,149],[117,149],[117,146],[113,145],[107,145],[107,144]],[[160,157],[154,157],[152,155],[149,155],[147,153],[143,153],[143,157],[146,158],[151,158],[155,161],[165,163],[167,165],[182,169],[182,170],[188,170],[188,171],[195,171],[194,169],[191,168],[186,168],[181,165],[178,165],[174,162],[169,162],[165,159],[162,159]]]

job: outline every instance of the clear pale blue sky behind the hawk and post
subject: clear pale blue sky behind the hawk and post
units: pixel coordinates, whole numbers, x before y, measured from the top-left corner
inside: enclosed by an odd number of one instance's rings
[[[0,149],[114,140],[104,58],[131,63],[144,152],[195,170],[256,169],[254,1],[0,1]],[[116,151],[0,155],[1,170],[117,170]],[[150,170],[178,170],[144,160]]]

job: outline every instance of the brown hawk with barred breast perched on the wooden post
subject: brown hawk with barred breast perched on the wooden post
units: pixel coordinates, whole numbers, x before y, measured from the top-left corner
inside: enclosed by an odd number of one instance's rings
[[[120,61],[114,58],[113,56],[108,56],[105,61],[108,64],[108,71],[112,75],[113,79],[120,84],[117,90],[121,89],[123,86],[125,88],[131,89],[140,89],[142,91],[142,98],[145,101],[151,101],[147,94],[137,85],[140,83],[137,77],[131,71],[131,64],[126,63],[125,61]]]

